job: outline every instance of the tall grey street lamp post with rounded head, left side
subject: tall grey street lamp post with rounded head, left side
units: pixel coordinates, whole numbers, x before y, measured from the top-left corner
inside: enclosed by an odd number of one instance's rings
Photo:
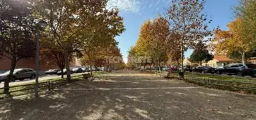
[[[34,96],[37,98],[38,95],[38,86],[39,86],[39,29],[40,28],[45,28],[46,26],[48,26],[46,21],[40,20],[38,22],[36,22],[37,25],[37,51],[36,51],[36,84],[34,86]]]

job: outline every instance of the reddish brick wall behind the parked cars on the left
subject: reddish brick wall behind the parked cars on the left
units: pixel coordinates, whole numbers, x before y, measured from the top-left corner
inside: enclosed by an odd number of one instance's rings
[[[16,68],[31,68],[35,69],[35,59],[22,59],[17,62]],[[11,61],[7,58],[0,59],[0,70],[9,70],[11,68]],[[58,69],[58,66],[40,64],[40,70],[45,71],[48,69]]]

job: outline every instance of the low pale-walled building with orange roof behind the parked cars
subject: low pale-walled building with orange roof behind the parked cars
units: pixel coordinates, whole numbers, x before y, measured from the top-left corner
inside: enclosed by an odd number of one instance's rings
[[[212,61],[208,61],[207,63],[203,63],[203,66],[212,66],[214,68],[218,66],[225,66],[230,63],[236,62],[233,59],[229,59],[227,56],[224,55],[214,55],[214,59]]]

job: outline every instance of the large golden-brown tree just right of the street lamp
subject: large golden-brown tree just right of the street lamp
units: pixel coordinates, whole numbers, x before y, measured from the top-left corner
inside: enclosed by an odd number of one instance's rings
[[[32,1],[36,15],[49,24],[52,44],[65,53],[67,81],[70,77],[70,59],[80,54],[87,46],[98,46],[98,40],[115,37],[123,31],[123,19],[118,10],[105,9],[108,0],[94,1]],[[96,43],[96,44],[95,44]],[[89,48],[91,51],[91,48]],[[86,53],[86,51],[85,51]]]

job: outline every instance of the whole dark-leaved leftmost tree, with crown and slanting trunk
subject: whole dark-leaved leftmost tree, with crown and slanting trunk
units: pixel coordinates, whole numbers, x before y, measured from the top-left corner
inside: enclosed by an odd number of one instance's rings
[[[4,81],[4,92],[8,94],[17,61],[35,54],[35,24],[27,1],[2,0],[0,11],[0,54],[11,60],[9,76]]]

